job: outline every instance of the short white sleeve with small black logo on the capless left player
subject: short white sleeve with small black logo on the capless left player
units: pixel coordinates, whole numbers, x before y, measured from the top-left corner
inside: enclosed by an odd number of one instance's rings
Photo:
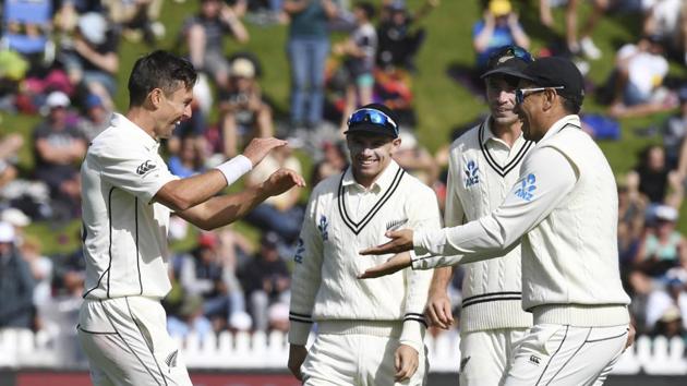
[[[97,155],[103,179],[146,203],[167,182],[179,179],[157,155],[150,155],[133,146],[120,145]]]

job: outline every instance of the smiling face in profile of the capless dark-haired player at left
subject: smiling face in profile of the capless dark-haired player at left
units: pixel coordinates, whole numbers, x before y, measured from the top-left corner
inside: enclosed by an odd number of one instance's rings
[[[177,124],[191,118],[193,88],[179,83],[179,87],[169,95],[159,88],[154,89],[150,94],[157,104],[155,135],[158,138],[168,138]]]

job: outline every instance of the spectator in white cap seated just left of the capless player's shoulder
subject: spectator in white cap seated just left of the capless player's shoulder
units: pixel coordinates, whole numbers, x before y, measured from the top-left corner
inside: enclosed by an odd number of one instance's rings
[[[86,155],[87,142],[69,113],[70,99],[62,92],[48,95],[48,116],[33,133],[35,176],[50,189],[55,210],[61,219],[79,215],[81,182],[79,164]]]

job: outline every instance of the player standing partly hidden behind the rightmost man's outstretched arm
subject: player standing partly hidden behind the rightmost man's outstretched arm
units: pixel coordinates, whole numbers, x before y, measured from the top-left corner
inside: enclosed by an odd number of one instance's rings
[[[482,75],[491,114],[450,146],[444,225],[454,227],[487,216],[504,201],[520,176],[534,143],[525,140],[515,113],[511,75],[532,61],[520,47],[496,51]],[[434,270],[426,314],[431,324],[453,326],[446,288],[454,267]],[[463,265],[460,314],[460,386],[497,386],[509,365],[515,342],[532,326],[522,310],[520,246],[503,258]]]

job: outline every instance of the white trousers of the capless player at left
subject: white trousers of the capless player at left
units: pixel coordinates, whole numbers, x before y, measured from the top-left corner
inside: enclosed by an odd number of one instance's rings
[[[157,299],[85,299],[77,328],[96,386],[192,385]]]

